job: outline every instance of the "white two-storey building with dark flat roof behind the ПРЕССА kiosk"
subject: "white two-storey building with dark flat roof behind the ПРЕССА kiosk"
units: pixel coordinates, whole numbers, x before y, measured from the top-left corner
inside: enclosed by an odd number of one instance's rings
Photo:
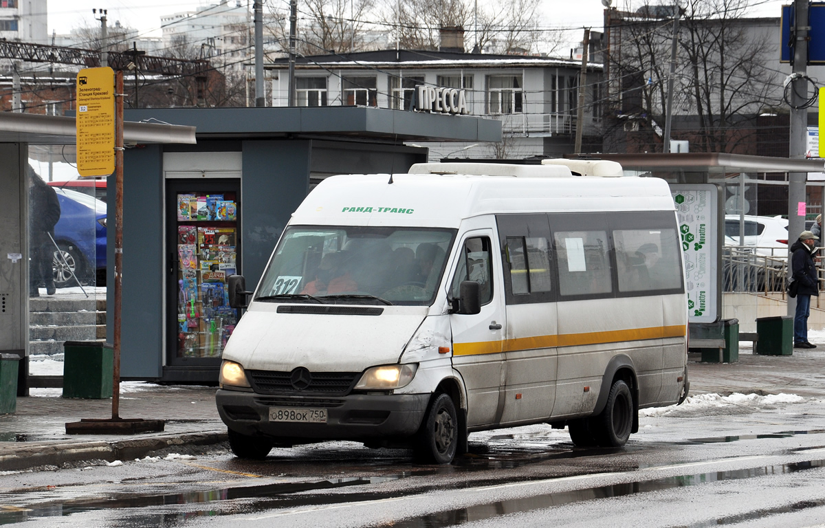
[[[461,49],[461,47],[459,47]],[[249,65],[251,68],[251,65]],[[287,106],[289,61],[266,65],[267,106]],[[457,50],[380,50],[300,57],[297,106],[377,106],[415,110],[417,87],[464,91],[467,113],[502,121],[501,144],[422,144],[430,158],[524,158],[572,153],[581,61]],[[583,134],[601,150],[601,64],[588,64]]]

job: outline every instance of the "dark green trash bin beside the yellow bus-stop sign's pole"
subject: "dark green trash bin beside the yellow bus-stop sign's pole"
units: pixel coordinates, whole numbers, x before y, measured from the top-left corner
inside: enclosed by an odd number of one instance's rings
[[[111,398],[114,347],[100,341],[67,341],[63,347],[63,397]]]

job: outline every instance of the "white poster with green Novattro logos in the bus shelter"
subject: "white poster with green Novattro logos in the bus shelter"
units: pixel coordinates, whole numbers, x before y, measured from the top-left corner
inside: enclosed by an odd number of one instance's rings
[[[685,255],[688,320],[691,323],[713,323],[719,317],[719,307],[716,306],[719,291],[716,270],[718,191],[716,186],[707,183],[670,187]]]

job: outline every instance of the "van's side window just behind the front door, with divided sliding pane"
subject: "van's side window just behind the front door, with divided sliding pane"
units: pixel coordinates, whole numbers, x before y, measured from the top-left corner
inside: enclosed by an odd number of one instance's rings
[[[513,295],[550,291],[553,284],[549,244],[544,237],[507,237],[507,262]]]

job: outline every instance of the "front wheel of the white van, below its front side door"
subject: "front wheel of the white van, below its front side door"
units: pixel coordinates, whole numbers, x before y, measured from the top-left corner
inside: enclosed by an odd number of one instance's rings
[[[450,464],[458,445],[459,421],[453,398],[436,394],[418,431],[418,458],[434,464]]]

